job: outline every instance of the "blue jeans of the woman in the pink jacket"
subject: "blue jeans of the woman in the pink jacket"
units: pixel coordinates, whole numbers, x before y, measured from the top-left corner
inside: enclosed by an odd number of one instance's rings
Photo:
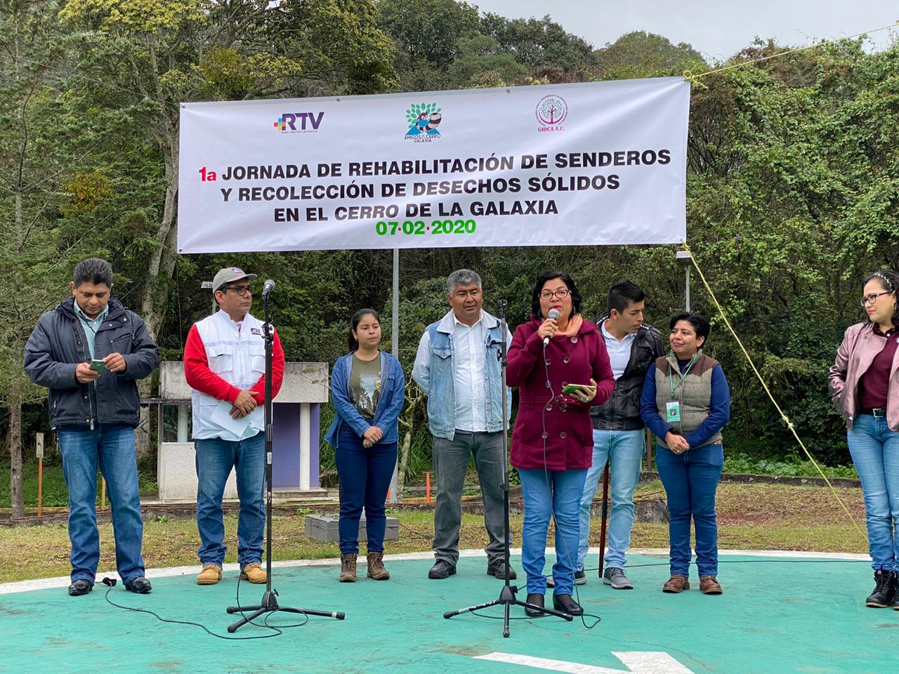
[[[865,494],[868,549],[874,570],[899,568],[899,432],[886,418],[861,414],[846,439]]]

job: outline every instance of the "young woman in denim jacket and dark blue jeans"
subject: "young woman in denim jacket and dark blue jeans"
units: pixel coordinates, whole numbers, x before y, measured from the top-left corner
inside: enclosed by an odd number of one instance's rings
[[[350,352],[337,359],[331,373],[335,414],[326,438],[334,446],[340,480],[340,581],[356,580],[363,506],[367,575],[387,581],[384,501],[396,466],[397,419],[405,402],[405,377],[399,361],[378,349],[381,324],[373,309],[360,309],[352,316],[348,343]]]

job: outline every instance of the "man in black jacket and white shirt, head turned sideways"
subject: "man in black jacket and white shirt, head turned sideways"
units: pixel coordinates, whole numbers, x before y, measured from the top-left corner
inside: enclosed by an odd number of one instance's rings
[[[640,479],[645,454],[640,394],[646,370],[664,355],[662,335],[643,322],[645,294],[633,283],[612,286],[606,313],[596,319],[609,351],[615,388],[605,404],[592,407],[593,465],[587,471],[581,500],[581,545],[577,551],[574,581],[587,581],[584,558],[590,542],[590,508],[606,462],[610,465],[612,508],[609,518],[609,552],[602,582],[615,590],[629,590],[634,583],[624,572],[630,531],[634,525],[634,490]]]

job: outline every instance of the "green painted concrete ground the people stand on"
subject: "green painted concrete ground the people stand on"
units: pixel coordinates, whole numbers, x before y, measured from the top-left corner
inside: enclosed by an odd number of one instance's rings
[[[307,625],[256,641],[225,642],[197,627],[170,625],[153,616],[111,607],[98,583],[90,595],[69,598],[57,587],[15,591],[0,586],[0,671],[65,672],[504,672],[574,674],[812,674],[899,670],[899,611],[871,609],[869,563],[859,558],[722,554],[725,594],[706,597],[695,587],[681,595],[661,591],[665,557],[631,556],[636,590],[611,590],[594,572],[580,588],[589,612],[602,622],[585,629],[579,619],[512,621],[445,610],[495,599],[501,581],[485,575],[485,558],[468,554],[458,575],[426,578],[428,555],[387,559],[386,582],[338,583],[334,563],[275,569],[274,587],[285,606],[346,612],[341,622],[312,617]],[[410,557],[418,557],[410,559]],[[595,557],[592,557],[595,560]],[[797,563],[785,560],[797,559]],[[641,564],[663,565],[640,566]],[[749,562],[749,563],[746,563]],[[521,560],[513,557],[521,572]],[[595,563],[594,563],[595,566]],[[233,568],[233,567],[232,567]],[[157,570],[157,573],[160,571]],[[117,585],[110,597],[167,618],[203,623],[218,634],[234,618],[236,572],[216,586],[194,584],[195,569],[152,578],[154,590],[136,596]],[[190,572],[190,573],[188,573]],[[523,575],[523,574],[521,574]],[[523,581],[520,581],[523,585]],[[264,587],[264,586],[262,586]],[[550,590],[551,591],[551,590]],[[240,585],[245,603],[260,586]],[[523,597],[523,592],[522,595]],[[501,609],[491,615],[501,616]],[[523,610],[513,609],[513,616]],[[302,616],[272,620],[297,622]],[[588,622],[592,622],[588,618]],[[236,636],[265,634],[251,625]],[[617,655],[619,657],[617,657]],[[488,656],[485,659],[484,656]]]

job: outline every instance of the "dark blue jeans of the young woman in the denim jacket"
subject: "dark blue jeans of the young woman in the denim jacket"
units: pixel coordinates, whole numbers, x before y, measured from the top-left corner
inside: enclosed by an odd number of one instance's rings
[[[341,554],[359,552],[359,519],[365,507],[365,532],[369,553],[384,552],[387,514],[384,501],[396,466],[396,442],[362,447],[362,439],[343,425],[334,450],[337,479],[340,481]]]

